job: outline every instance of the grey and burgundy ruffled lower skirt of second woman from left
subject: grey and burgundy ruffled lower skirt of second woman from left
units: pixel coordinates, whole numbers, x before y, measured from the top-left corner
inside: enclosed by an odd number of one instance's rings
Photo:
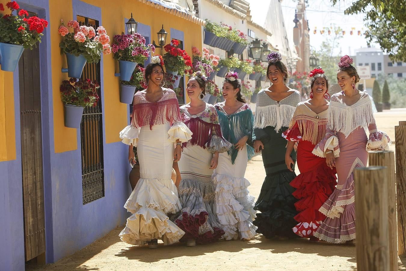
[[[182,239],[192,238],[197,243],[211,243],[221,238],[224,231],[214,209],[214,184],[182,179],[179,184],[181,215],[175,223],[186,232]]]

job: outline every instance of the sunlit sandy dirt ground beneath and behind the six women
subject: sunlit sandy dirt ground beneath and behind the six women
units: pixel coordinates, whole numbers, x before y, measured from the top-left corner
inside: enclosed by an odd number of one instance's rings
[[[379,130],[394,140],[394,126],[406,120],[406,109],[376,113]],[[394,150],[394,146],[391,147]],[[298,172],[296,172],[298,173]],[[265,178],[261,155],[248,162],[245,177],[251,195],[258,197]],[[124,181],[124,180],[123,180]],[[27,264],[27,270],[356,270],[353,245],[309,243],[307,239],[279,241],[258,234],[248,242],[220,241],[186,247],[184,244],[148,249],[121,242],[123,226],[54,264]],[[403,264],[402,264],[403,262]],[[399,270],[406,270],[406,258]]]

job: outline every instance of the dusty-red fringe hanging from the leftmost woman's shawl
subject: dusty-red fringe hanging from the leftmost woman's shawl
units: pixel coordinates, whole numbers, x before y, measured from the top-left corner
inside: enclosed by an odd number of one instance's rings
[[[168,121],[171,125],[180,121],[179,104],[177,99],[164,100],[156,103],[136,104],[132,111],[132,126],[152,126],[165,124]]]

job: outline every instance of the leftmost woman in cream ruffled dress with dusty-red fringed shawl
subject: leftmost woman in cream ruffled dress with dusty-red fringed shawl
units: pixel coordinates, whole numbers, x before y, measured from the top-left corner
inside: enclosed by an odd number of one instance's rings
[[[153,56],[145,68],[148,87],[134,95],[131,125],[120,132],[123,143],[137,147],[140,180],[124,205],[132,215],[119,236],[132,245],[148,243],[149,248],[158,247],[157,239],[168,245],[185,234],[166,214],[181,210],[172,164],[192,132],[180,121],[175,92],[160,87],[163,79],[162,58]]]

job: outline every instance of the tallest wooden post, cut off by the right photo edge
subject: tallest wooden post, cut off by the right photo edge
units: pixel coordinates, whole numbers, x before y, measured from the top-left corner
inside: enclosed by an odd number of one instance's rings
[[[406,255],[406,121],[395,126],[395,152],[398,254]]]

